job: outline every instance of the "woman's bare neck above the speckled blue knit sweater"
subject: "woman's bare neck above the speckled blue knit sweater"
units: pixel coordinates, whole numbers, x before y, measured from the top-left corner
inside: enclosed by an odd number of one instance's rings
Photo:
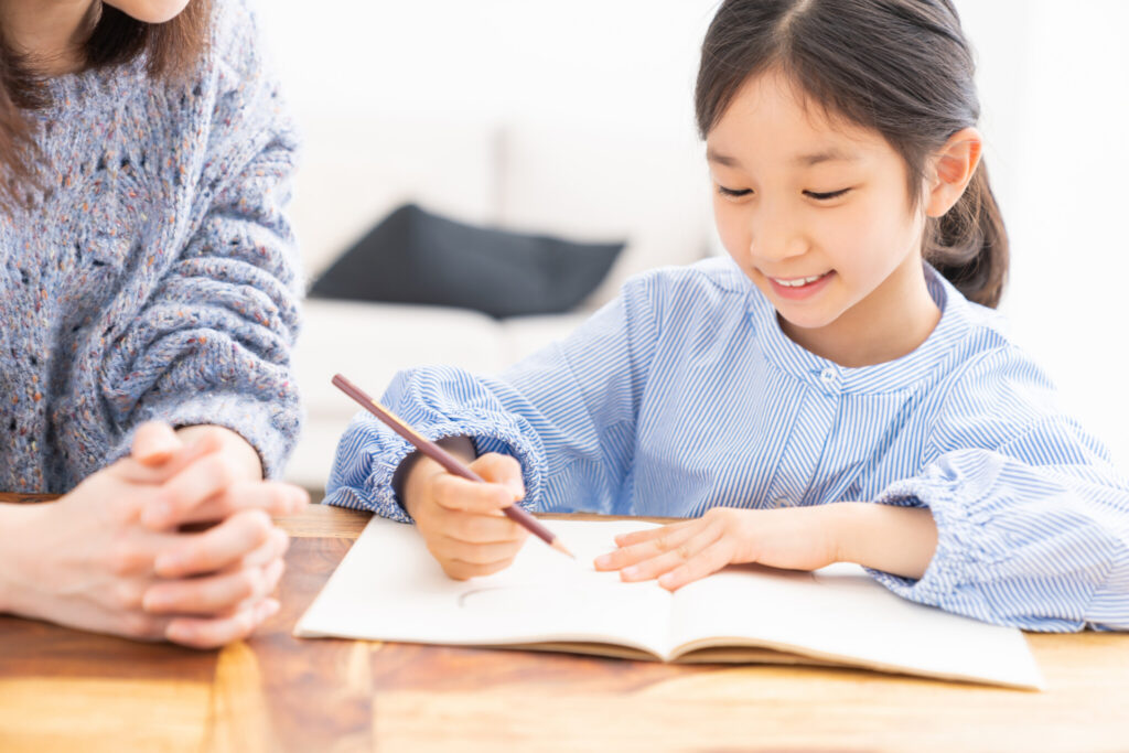
[[[24,55],[36,73],[76,71],[100,7],[96,0],[0,0],[3,42]]]

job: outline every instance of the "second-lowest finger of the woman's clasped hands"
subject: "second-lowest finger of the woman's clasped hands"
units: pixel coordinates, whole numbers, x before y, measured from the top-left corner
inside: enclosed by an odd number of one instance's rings
[[[142,606],[152,614],[217,615],[253,605],[271,594],[285,563],[277,558],[265,567],[250,567],[205,578],[158,583],[145,594]]]

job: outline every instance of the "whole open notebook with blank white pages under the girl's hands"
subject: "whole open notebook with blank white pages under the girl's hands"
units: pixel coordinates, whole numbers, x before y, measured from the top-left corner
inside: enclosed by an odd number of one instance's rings
[[[854,564],[730,567],[674,594],[592,561],[654,524],[548,520],[572,561],[530,537],[466,581],[408,525],[373,518],[298,621],[303,638],[509,646],[666,662],[835,664],[1040,689],[1023,633],[904,601]]]

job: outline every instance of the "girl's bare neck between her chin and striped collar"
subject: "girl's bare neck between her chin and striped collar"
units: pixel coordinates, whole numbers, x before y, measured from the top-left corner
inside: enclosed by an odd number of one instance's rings
[[[939,321],[940,309],[929,295],[921,257],[909,254],[869,296],[831,324],[805,330],[781,318],[780,329],[816,356],[857,368],[912,352]]]

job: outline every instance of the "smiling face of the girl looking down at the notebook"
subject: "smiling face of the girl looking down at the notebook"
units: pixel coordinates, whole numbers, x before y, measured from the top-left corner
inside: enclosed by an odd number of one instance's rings
[[[721,242],[794,340],[865,338],[936,312],[920,264],[925,212],[879,133],[829,121],[765,73],[745,82],[706,146]]]

